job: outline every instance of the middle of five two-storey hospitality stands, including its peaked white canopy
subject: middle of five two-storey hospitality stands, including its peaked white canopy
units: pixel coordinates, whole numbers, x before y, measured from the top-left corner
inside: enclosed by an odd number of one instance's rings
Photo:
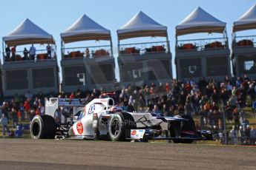
[[[172,78],[171,51],[167,27],[157,23],[142,11],[117,30],[120,84],[150,84]],[[120,44],[128,38],[165,37],[166,41]]]

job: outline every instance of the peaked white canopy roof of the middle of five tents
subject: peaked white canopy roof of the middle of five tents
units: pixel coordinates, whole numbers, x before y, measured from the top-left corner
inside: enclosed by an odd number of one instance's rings
[[[145,13],[137,13],[128,23],[117,30],[119,40],[145,36],[167,37],[167,27],[157,23]]]

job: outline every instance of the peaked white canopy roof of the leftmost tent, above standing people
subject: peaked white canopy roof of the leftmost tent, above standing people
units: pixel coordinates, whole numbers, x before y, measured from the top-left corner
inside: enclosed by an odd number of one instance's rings
[[[42,30],[28,18],[22,22],[13,32],[3,37],[8,46],[24,44],[55,44],[53,36]]]

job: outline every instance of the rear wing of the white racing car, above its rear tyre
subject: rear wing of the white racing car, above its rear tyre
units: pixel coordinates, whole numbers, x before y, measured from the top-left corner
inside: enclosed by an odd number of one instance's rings
[[[45,115],[50,115],[54,118],[56,109],[59,106],[73,107],[74,110],[83,108],[88,103],[86,98],[49,98],[45,99]]]

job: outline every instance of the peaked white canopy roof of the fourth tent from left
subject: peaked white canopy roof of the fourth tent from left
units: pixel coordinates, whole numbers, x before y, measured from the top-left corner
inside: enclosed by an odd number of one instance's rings
[[[223,33],[226,23],[214,18],[201,7],[197,7],[176,26],[176,35],[190,33]]]

